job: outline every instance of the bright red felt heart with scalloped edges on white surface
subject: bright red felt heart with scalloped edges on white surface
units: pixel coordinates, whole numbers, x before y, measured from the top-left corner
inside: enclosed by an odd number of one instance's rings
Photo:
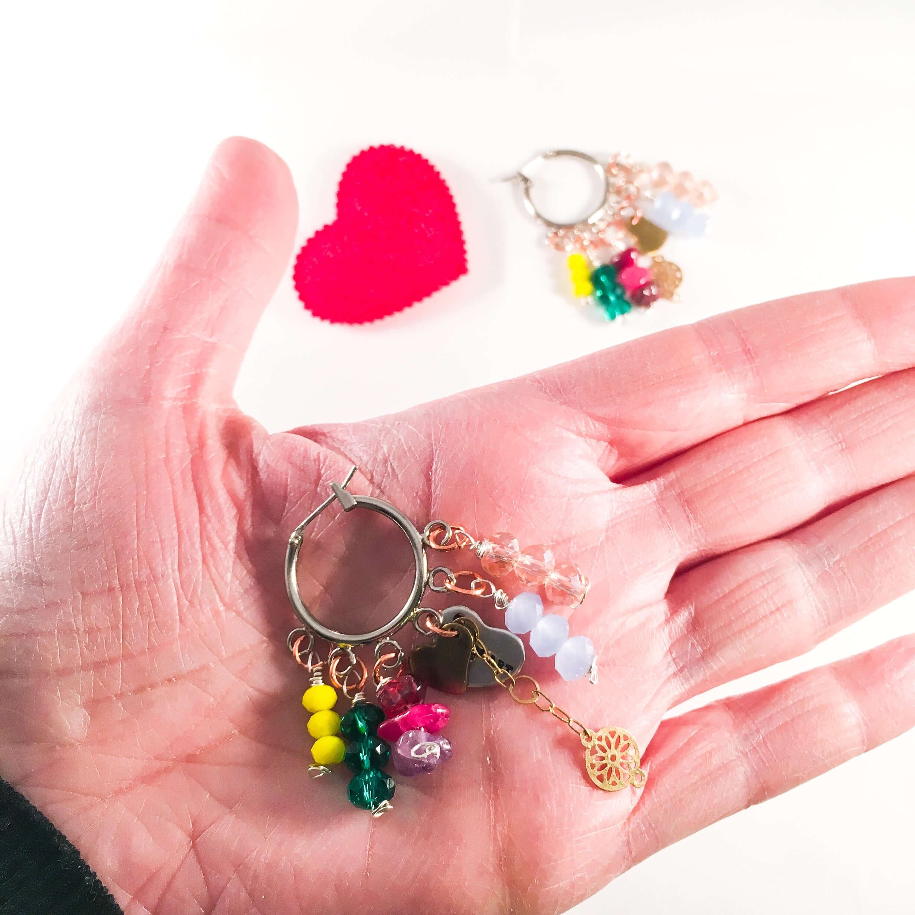
[[[313,315],[364,324],[466,273],[458,210],[441,175],[411,149],[372,146],[344,169],[337,220],[302,247],[293,281]]]

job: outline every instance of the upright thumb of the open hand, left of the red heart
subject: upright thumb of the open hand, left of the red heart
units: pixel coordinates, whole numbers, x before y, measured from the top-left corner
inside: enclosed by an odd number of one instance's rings
[[[93,362],[96,380],[118,398],[231,400],[297,219],[285,162],[254,140],[224,140],[135,306]]]

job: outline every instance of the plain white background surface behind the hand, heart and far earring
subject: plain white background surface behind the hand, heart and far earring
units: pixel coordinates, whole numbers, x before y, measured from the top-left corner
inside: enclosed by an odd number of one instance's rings
[[[225,135],[285,156],[302,240],[333,219],[347,159],[393,142],[441,170],[468,242],[467,277],[368,328],[310,318],[285,282],[238,386],[271,429],[390,412],[677,321],[915,269],[909,0],[120,0],[21,3],[4,18],[0,473],[128,306]],[[570,304],[562,258],[518,188],[495,180],[556,146],[621,147],[716,184],[709,237],[670,249],[680,304],[627,327]],[[912,607],[740,686],[911,630]],[[909,735],[576,911],[910,912],[913,765]]]

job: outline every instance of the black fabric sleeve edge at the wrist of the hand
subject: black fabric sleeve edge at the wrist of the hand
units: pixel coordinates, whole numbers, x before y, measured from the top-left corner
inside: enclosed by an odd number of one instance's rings
[[[0,913],[123,915],[80,853],[0,779]]]

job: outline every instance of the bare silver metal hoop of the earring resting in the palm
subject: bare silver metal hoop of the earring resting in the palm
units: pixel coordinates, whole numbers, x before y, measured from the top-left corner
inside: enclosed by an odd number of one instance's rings
[[[420,601],[423,599],[423,594],[425,593],[425,586],[429,575],[428,566],[425,561],[425,551],[423,549],[423,538],[416,530],[413,523],[388,502],[382,501],[381,499],[373,499],[371,496],[354,496],[352,493],[347,492],[346,488],[350,484],[350,480],[355,473],[356,467],[353,466],[342,484],[330,484],[330,489],[333,494],[318,505],[318,508],[315,509],[315,511],[312,511],[305,521],[296,527],[296,530],[293,531],[289,537],[285,555],[286,594],[289,596],[289,603],[292,604],[292,608],[296,611],[296,616],[305,623],[308,630],[314,632],[322,639],[338,645],[367,645],[372,641],[392,635],[399,630],[404,626],[404,623],[409,621],[414,610],[419,607]],[[314,616],[312,616],[311,611],[306,607],[305,601],[302,600],[302,596],[298,590],[296,565],[298,563],[298,554],[302,549],[302,532],[322,511],[328,508],[333,501],[339,501],[343,511],[363,508],[369,509],[369,511],[377,511],[379,514],[384,515],[385,518],[390,518],[406,534],[406,539],[410,542],[410,547],[413,550],[414,581],[413,590],[410,592],[410,596],[407,597],[404,607],[398,611],[393,619],[390,619],[388,622],[384,623],[384,625],[379,626],[378,629],[371,630],[371,632],[339,632],[338,630],[332,630],[327,626],[323,626]]]

